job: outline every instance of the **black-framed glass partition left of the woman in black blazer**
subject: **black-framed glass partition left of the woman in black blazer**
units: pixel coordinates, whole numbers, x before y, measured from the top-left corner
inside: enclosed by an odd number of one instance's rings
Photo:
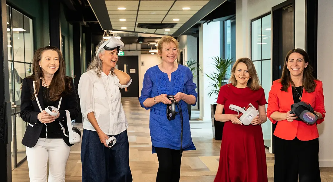
[[[12,103],[11,142],[12,169],[26,159],[25,146],[21,144],[27,123],[20,117],[22,80],[32,75],[33,25],[32,19],[7,5],[7,39],[9,94]]]

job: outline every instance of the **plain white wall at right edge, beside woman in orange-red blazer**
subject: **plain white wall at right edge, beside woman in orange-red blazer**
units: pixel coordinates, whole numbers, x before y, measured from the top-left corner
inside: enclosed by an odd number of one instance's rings
[[[321,167],[333,166],[333,90],[332,85],[332,68],[333,62],[332,47],[333,47],[333,1],[318,0],[318,47],[317,47],[317,68],[318,79],[323,82],[323,90],[325,96],[325,121],[318,125],[319,130],[319,164]]]

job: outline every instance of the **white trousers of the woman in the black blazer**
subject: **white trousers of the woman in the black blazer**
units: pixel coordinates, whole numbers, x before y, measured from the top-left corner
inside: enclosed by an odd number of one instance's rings
[[[39,138],[37,144],[26,147],[30,182],[46,182],[49,160],[49,182],[64,182],[66,163],[71,147],[62,138]]]

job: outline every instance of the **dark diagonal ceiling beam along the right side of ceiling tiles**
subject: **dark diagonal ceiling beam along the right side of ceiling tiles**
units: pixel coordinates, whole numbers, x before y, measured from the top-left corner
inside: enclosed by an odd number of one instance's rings
[[[193,25],[198,23],[203,17],[214,11],[217,7],[223,4],[226,0],[210,0],[204,5],[198,12],[196,12],[186,23],[184,23],[178,30],[176,30],[172,36],[178,37],[186,32]]]

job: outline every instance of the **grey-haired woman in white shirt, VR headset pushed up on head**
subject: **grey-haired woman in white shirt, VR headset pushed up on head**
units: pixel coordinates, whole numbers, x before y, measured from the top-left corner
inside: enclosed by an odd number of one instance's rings
[[[123,47],[124,43],[117,38],[102,40],[96,48],[96,56],[79,81],[78,92],[84,117],[82,182],[132,181],[128,122],[119,90],[128,87],[132,79],[115,68],[118,53]],[[109,144],[106,141],[109,137],[116,140]]]

